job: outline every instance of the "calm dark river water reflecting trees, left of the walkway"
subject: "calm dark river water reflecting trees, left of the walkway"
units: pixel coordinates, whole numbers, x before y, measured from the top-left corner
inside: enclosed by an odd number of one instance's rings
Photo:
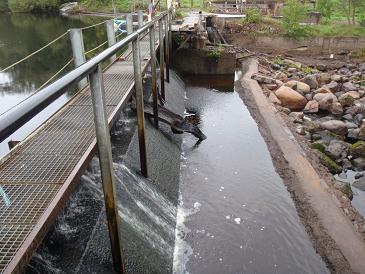
[[[59,15],[0,14],[0,70],[48,44],[70,28],[89,26],[100,17],[62,17]],[[104,26],[84,30],[85,50],[106,40]],[[88,58],[92,55],[87,56]],[[45,83],[72,58],[69,35],[27,61],[0,73],[0,114],[6,112]],[[74,67],[69,65],[60,76]],[[0,158],[8,152],[7,141],[22,140],[73,95],[73,88],[34,117],[22,129],[0,144]]]

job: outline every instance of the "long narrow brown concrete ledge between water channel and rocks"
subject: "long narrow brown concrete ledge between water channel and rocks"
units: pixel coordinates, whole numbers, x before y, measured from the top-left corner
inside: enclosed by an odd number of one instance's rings
[[[261,87],[251,79],[258,70],[256,60],[247,62],[247,71],[241,79],[243,89],[238,92],[246,102],[251,101],[248,107],[267,133],[264,138],[269,149],[271,147],[275,167],[278,169],[280,161],[286,165],[278,173],[284,177],[313,246],[331,272],[365,273],[365,243],[342,212],[338,201],[326,190],[326,185]],[[275,149],[279,153],[273,155]]]

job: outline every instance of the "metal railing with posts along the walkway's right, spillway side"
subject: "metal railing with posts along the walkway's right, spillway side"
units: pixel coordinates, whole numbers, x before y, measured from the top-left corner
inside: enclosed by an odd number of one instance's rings
[[[157,72],[156,72],[156,49],[155,49],[155,27],[158,23],[159,27],[159,44],[160,44],[160,72],[161,72],[161,93],[165,96],[164,90],[164,63],[166,60],[166,69],[168,70],[168,56],[171,42],[171,23],[172,10],[165,11],[152,21],[142,26],[143,20],[139,18],[139,28],[132,32],[131,16],[127,16],[128,35],[115,42],[111,39],[109,48],[96,55],[89,61],[80,62],[78,67],[70,71],[60,79],[49,84],[37,93],[28,97],[18,105],[14,106],[0,116],[0,143],[7,137],[13,134],[17,129],[22,127],[35,115],[41,112],[45,107],[63,95],[67,88],[75,83],[79,83],[85,78],[89,79],[91,90],[92,105],[94,112],[94,122],[96,129],[96,140],[100,158],[100,168],[102,174],[102,184],[104,192],[105,207],[107,213],[109,236],[112,248],[114,268],[120,273],[124,273],[124,255],[121,242],[119,215],[116,202],[116,190],[114,182],[114,171],[111,154],[110,132],[108,117],[105,107],[104,83],[102,77],[101,63],[108,59],[116,60],[116,53],[129,44],[132,44],[133,68],[134,68],[134,83],[136,94],[137,108],[137,123],[139,137],[139,151],[141,172],[147,176],[147,156],[146,156],[146,141],[145,141],[145,126],[144,126],[144,106],[143,106],[143,86],[142,86],[142,71],[140,57],[140,38],[148,32],[150,39],[150,56],[151,56],[151,71],[152,71],[152,98],[154,109],[154,123],[158,126],[158,91],[157,91]],[[164,28],[165,26],[165,28]],[[165,37],[164,37],[165,30]],[[114,33],[115,35],[115,33]],[[82,38],[82,36],[81,36]],[[109,37],[108,37],[109,38]],[[79,39],[80,42],[80,39]],[[82,42],[82,40],[81,40]],[[80,43],[81,43],[80,42]],[[165,43],[165,47],[164,47]],[[75,55],[75,53],[74,53]],[[165,58],[166,56],[166,58]],[[74,56],[75,59],[75,56]],[[168,76],[168,73],[167,73]]]

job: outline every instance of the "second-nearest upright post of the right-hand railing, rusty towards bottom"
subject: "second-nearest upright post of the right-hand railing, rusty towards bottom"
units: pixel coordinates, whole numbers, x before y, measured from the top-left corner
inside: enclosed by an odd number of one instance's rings
[[[141,173],[147,177],[147,149],[146,136],[144,126],[144,103],[143,103],[143,86],[141,57],[139,49],[139,37],[132,42],[133,49],[133,68],[134,68],[134,86],[136,89],[136,105],[137,105],[137,124],[138,124],[138,140],[139,140],[139,159],[141,164]]]

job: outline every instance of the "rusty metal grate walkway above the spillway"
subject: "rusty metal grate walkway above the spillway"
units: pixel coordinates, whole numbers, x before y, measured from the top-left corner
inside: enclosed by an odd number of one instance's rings
[[[145,35],[142,71],[149,49]],[[103,73],[103,81],[112,125],[133,93],[131,50]],[[95,151],[91,91],[85,88],[0,162],[0,186],[10,199],[9,205],[0,199],[0,273],[25,269]]]

